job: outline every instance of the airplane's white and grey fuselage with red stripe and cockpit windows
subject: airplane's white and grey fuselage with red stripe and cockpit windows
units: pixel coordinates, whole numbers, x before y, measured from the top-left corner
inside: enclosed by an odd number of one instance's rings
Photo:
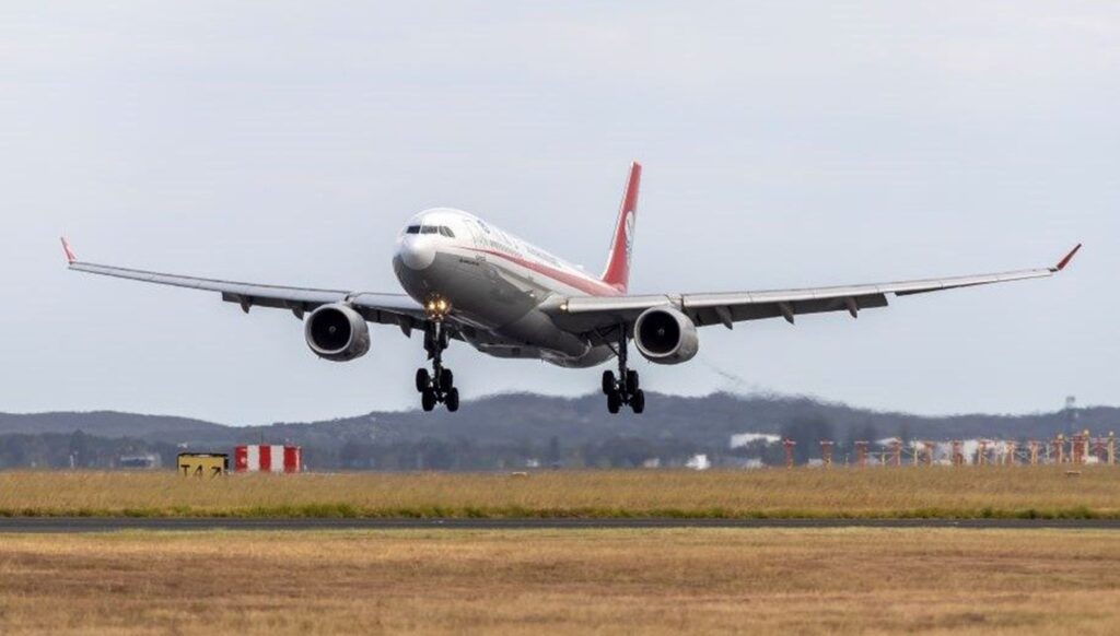
[[[483,353],[576,367],[613,355],[558,328],[540,306],[554,296],[620,296],[618,289],[466,212],[414,216],[398,238],[393,269],[418,302],[447,301],[448,321]]]

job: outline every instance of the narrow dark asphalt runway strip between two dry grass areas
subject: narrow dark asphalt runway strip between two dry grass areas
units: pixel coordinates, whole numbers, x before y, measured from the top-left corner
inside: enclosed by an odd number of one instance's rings
[[[673,529],[968,529],[1112,530],[1120,520],[777,520],[777,518],[140,518],[7,517],[0,534],[69,534],[122,531],[355,531],[355,530],[673,530]]]

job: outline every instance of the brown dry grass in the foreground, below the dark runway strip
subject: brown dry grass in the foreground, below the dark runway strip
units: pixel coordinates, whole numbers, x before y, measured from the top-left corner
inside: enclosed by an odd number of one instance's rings
[[[0,633],[1114,634],[1108,532],[0,536]]]

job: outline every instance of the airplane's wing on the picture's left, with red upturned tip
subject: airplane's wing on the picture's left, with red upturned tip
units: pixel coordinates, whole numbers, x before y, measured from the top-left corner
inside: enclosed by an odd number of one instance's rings
[[[99,265],[80,261],[65,238],[63,238],[63,250],[72,271],[217,292],[222,294],[222,300],[240,305],[246,314],[253,307],[267,307],[287,309],[297,318],[302,318],[306,312],[314,311],[324,305],[348,302],[371,322],[398,325],[405,331],[413,327],[421,327],[423,322],[423,308],[402,293],[349,292],[255,284]]]

